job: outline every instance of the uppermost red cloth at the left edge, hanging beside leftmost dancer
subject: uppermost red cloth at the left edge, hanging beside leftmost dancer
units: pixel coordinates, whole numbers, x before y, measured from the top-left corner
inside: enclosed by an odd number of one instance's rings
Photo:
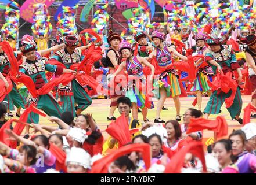
[[[17,59],[13,54],[12,47],[10,47],[10,44],[7,41],[0,42],[0,46],[2,46],[3,52],[5,52],[9,58],[11,75],[16,76],[17,72],[19,71],[19,66],[17,65]]]

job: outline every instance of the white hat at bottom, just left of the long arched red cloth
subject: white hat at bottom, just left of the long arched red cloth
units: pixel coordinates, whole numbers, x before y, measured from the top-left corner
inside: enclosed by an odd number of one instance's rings
[[[84,149],[72,147],[67,154],[66,164],[73,162],[75,164],[83,166],[85,169],[91,167],[91,156]]]

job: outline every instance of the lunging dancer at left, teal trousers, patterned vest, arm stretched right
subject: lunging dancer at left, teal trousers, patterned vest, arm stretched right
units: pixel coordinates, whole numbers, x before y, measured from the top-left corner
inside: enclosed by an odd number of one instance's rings
[[[35,56],[35,48],[36,46],[33,44],[27,44],[20,48],[27,60],[19,66],[19,72],[30,76],[36,89],[39,89],[44,86],[44,84],[48,83],[45,76],[46,70],[55,73],[56,75],[70,72],[76,73],[70,69],[63,69],[62,67],[56,65],[46,64],[46,58],[38,59]],[[19,77],[20,75],[18,75],[18,78]],[[33,103],[35,106],[37,106],[37,108],[44,110],[44,112],[49,116],[60,117],[62,114],[62,109],[50,92],[45,95],[38,95],[36,98],[33,98],[32,95],[28,94],[27,103],[28,105]],[[38,123],[38,121],[38,114],[30,113],[28,115],[27,123]],[[26,130],[26,134],[28,134],[28,129]]]

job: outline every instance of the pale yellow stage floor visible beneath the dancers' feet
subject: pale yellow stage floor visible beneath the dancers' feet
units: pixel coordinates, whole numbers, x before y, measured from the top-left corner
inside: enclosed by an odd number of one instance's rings
[[[209,97],[203,97],[202,109],[204,109],[205,105],[208,102],[208,99]],[[251,102],[251,96],[243,96],[242,99],[243,99],[243,108],[247,106],[248,103]],[[180,101],[181,101],[181,116],[182,116],[182,114],[185,112],[186,109],[193,108],[192,102],[194,101],[194,97],[180,98]],[[155,108],[149,109],[148,116],[147,116],[150,121],[154,121],[156,116],[157,100],[153,99],[153,102],[154,102]],[[92,105],[89,106],[87,109],[85,109],[84,112],[82,112],[82,113],[92,113],[93,118],[96,120],[96,123],[98,124],[100,130],[104,135],[104,139],[107,139],[108,137],[108,134],[105,132],[105,129],[107,128],[107,125],[110,124],[110,121],[107,121],[107,116],[110,109],[109,105],[110,105],[110,99],[93,99]],[[163,110],[161,112],[161,119],[165,121],[171,120],[171,119],[175,120],[176,110],[175,110],[174,101],[172,100],[172,98],[167,98],[167,101],[165,101],[164,103],[164,107],[168,108],[168,110]],[[195,108],[197,109],[197,106]],[[223,104],[221,109],[222,109],[222,113],[220,113],[219,115],[224,116],[225,119],[227,120],[228,128],[229,128],[228,133],[230,134],[233,131],[233,129],[240,129],[241,125],[236,120],[230,119],[229,112],[225,108],[225,103]],[[114,116],[115,117],[120,116],[120,114],[118,113],[118,110],[116,110],[116,112],[114,113]],[[214,119],[214,117],[217,117],[217,115],[211,115],[209,119]],[[243,118],[243,110],[241,112],[241,118]],[[142,114],[139,113],[139,120],[143,121],[142,119],[143,119]],[[254,119],[251,119],[251,121],[254,121]],[[39,123],[46,124],[46,125],[56,125],[48,121],[47,117],[46,118],[40,117]],[[180,121],[180,123],[182,123],[182,120]],[[211,137],[213,137],[212,131],[204,131],[203,143],[207,142],[207,140]],[[212,142],[212,139],[210,140],[211,140],[210,142]]]

